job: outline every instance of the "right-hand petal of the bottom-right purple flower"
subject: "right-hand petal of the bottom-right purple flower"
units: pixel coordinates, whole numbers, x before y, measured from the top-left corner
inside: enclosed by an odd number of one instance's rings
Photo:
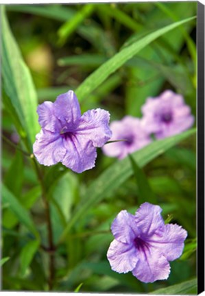
[[[169,261],[176,260],[182,255],[184,249],[184,240],[187,236],[186,230],[177,224],[167,224],[163,233],[154,234],[147,241],[158,250]]]

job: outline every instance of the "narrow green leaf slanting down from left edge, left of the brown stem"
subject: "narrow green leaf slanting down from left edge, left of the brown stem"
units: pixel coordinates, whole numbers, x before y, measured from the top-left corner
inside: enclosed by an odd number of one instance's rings
[[[19,221],[27,227],[27,229],[32,232],[36,237],[38,237],[38,231],[30,217],[29,212],[19,202],[19,200],[8,190],[8,188],[2,184],[2,201],[3,203],[10,204],[10,210],[14,212]]]

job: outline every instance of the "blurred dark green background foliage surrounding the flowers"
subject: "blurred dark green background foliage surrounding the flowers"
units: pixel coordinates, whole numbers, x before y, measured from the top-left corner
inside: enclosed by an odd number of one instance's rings
[[[196,8],[197,2],[183,1],[6,5],[5,11],[32,75],[38,103],[42,103],[54,101],[57,95],[69,89],[77,89],[88,75],[116,53],[159,28],[195,16]],[[195,20],[163,34],[109,75],[88,96],[80,96],[82,112],[104,108],[110,112],[111,121],[125,114],[141,117],[141,106],[147,97],[172,89],[184,96],[196,116],[195,41]],[[13,47],[11,56],[12,50]],[[9,139],[17,147],[26,147],[19,138],[21,129],[19,132],[7,96],[3,88],[2,288],[47,291],[51,254],[45,249],[47,228],[41,188],[32,162],[5,140]],[[33,119],[30,125],[36,122]],[[141,160],[140,167],[146,165],[138,173],[144,174],[145,182],[149,183],[157,204],[163,209],[164,219],[171,217],[171,223],[182,225],[189,236],[182,257],[171,262],[169,279],[153,284],[139,282],[131,273],[115,273],[106,258],[113,239],[112,220],[122,209],[134,213],[139,201],[143,201],[141,184],[128,166],[129,160],[125,160],[128,168],[124,175],[121,173],[123,165],[104,156],[100,149],[96,167],[80,175],[61,164],[43,167],[56,245],[53,291],[151,293],[173,286],[172,293],[195,293],[195,134],[178,138],[176,145],[168,146],[165,153],[151,157],[151,162]],[[27,147],[32,153],[29,145]],[[113,190],[104,187],[109,169],[110,173],[121,176]],[[121,174],[117,170],[121,170]],[[92,198],[88,205],[89,197]],[[146,200],[152,202],[149,197]],[[184,286],[178,286],[182,282]]]

